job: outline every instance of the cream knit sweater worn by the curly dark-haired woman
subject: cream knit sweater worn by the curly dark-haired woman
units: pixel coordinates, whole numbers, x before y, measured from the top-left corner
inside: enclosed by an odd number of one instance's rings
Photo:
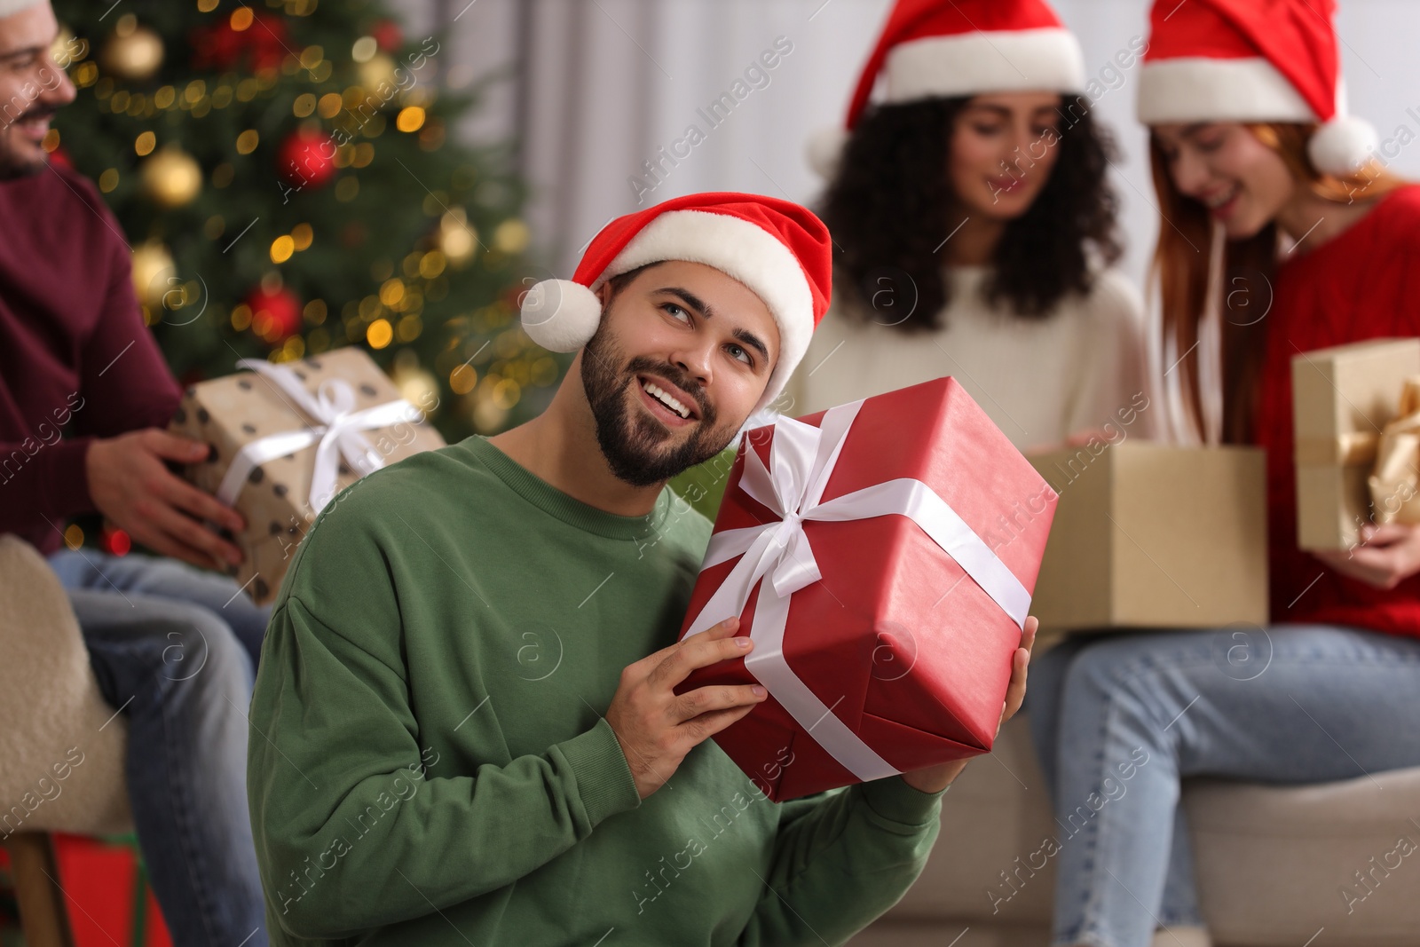
[[[790,379],[799,416],[834,405],[954,376],[1020,449],[1054,446],[1066,434],[1120,426],[1147,437],[1143,304],[1119,273],[1105,270],[1088,295],[1066,297],[1045,319],[993,310],[981,295],[985,267],[949,271],[946,328],[907,334],[866,322],[835,305]],[[890,311],[890,310],[889,310]]]

